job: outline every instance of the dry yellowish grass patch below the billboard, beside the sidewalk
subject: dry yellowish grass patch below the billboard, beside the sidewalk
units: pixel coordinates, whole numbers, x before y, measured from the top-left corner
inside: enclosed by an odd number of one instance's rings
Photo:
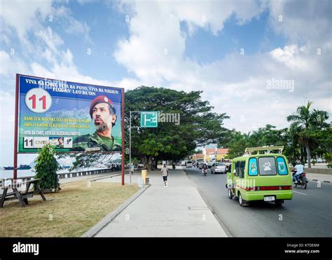
[[[1,237],[79,237],[139,190],[134,184],[80,180],[61,184],[61,191],[5,201],[0,208]]]

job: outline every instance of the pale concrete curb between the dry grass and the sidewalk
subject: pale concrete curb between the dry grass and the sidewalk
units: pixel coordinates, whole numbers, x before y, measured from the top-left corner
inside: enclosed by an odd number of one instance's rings
[[[136,200],[141,193],[144,193],[148,187],[151,186],[151,184],[146,185],[144,188],[137,191],[137,193],[134,193],[133,196],[131,196],[128,200],[126,200],[123,204],[121,204],[116,210],[113,210],[113,212],[109,213],[104,219],[99,221],[95,226],[92,226],[88,231],[86,231],[83,235],[81,235],[81,238],[93,238],[99,231],[104,228],[109,222],[111,222],[113,219],[118,216],[123,210],[125,210],[126,207],[128,207],[134,200]]]

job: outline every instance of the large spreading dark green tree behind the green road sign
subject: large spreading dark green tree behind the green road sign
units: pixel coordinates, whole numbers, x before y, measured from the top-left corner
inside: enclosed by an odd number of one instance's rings
[[[125,93],[126,146],[129,146],[130,111],[161,111],[179,114],[179,123],[158,123],[158,128],[139,128],[139,113],[132,113],[132,156],[148,169],[153,161],[184,158],[196,146],[218,142],[225,132],[226,114],[212,112],[209,102],[202,101],[202,91],[171,90],[141,86]]]

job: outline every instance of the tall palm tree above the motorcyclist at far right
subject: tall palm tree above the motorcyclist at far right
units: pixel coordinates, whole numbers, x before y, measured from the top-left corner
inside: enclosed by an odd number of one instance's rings
[[[293,134],[297,135],[298,142],[305,146],[308,167],[311,167],[310,144],[312,144],[312,132],[321,130],[328,125],[325,123],[328,119],[328,113],[317,109],[310,111],[311,105],[312,102],[308,101],[306,105],[298,107],[296,113],[287,116],[287,121],[293,122],[291,123]]]

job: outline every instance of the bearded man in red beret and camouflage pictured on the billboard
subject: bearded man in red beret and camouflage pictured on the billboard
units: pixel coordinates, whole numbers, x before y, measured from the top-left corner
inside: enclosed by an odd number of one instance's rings
[[[105,95],[99,95],[90,104],[90,117],[95,124],[92,135],[83,135],[75,140],[76,151],[121,151],[121,144],[112,136],[112,128],[116,124],[116,109],[112,101]]]

